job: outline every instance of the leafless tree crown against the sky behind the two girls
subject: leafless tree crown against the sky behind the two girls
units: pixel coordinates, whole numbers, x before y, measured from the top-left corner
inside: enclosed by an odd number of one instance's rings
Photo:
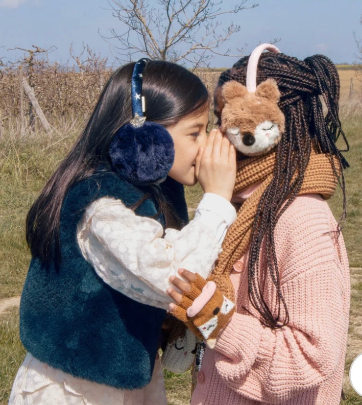
[[[215,54],[231,55],[230,48],[221,46],[240,31],[240,25],[230,22],[224,26],[219,17],[238,14],[241,10],[257,7],[249,0],[238,1],[230,9],[222,1],[157,0],[158,8],[147,0],[107,0],[112,15],[125,26],[121,33],[111,28],[107,40],[118,40],[116,48],[123,60],[141,53],[151,59],[172,62],[191,62],[194,67],[207,66]],[[242,53],[241,49],[238,49]]]

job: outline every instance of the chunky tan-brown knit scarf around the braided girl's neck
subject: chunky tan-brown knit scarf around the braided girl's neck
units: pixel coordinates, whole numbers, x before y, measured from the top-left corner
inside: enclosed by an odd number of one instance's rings
[[[226,234],[216,268],[210,276],[210,279],[215,281],[218,288],[232,301],[235,299],[234,288],[229,275],[233,264],[246,253],[250,244],[259,200],[273,178],[275,158],[276,152],[273,151],[266,156],[238,162],[234,193],[239,193],[253,184],[262,183],[238,211],[238,217]],[[337,159],[335,167],[338,170]],[[327,199],[334,193],[336,184],[337,178],[333,172],[330,155],[317,154],[312,150],[298,194],[318,193]]]

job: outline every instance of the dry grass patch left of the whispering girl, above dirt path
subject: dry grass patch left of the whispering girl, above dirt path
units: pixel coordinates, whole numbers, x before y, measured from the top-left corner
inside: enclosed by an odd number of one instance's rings
[[[39,133],[0,140],[0,298],[22,290],[30,258],[24,238],[27,211],[74,139],[75,131],[66,138]]]

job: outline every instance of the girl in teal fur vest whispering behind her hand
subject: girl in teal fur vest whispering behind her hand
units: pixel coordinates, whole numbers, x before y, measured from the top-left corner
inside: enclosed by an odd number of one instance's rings
[[[28,354],[9,404],[167,404],[155,359],[169,276],[192,263],[207,277],[236,218],[235,149],[207,138],[208,110],[200,79],[169,62],[109,79],[27,216]],[[186,225],[183,185],[197,180]]]

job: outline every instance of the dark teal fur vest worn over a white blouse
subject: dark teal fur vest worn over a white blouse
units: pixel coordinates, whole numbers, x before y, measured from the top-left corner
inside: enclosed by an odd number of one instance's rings
[[[74,377],[117,388],[140,388],[150,381],[166,311],[140,304],[104,283],[83,258],[76,239],[77,224],[92,201],[111,196],[130,207],[143,195],[112,172],[94,174],[66,195],[59,231],[61,261],[55,255],[48,264],[32,258],[21,298],[20,337],[35,358]],[[181,210],[186,222],[186,204],[181,205],[176,211]],[[148,217],[156,212],[151,199],[136,210]],[[163,216],[157,219],[163,224]]]

